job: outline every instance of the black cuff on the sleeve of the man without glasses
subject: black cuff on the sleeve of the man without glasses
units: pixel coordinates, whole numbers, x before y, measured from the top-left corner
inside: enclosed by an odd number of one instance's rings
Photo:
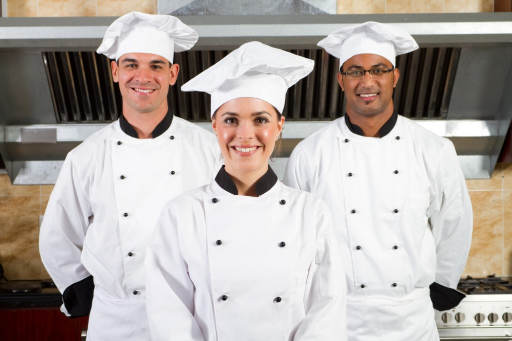
[[[91,311],[94,293],[94,280],[92,275],[71,284],[62,293],[62,300],[66,310],[72,317],[87,316]]]

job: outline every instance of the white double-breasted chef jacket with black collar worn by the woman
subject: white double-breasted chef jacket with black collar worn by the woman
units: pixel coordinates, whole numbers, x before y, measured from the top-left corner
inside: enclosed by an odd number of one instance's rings
[[[269,168],[258,197],[221,168],[170,201],[146,255],[158,340],[345,340],[344,270],[325,202]]]

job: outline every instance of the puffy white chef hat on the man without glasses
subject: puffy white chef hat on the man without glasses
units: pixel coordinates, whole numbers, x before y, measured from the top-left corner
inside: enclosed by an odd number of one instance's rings
[[[131,12],[117,18],[97,53],[118,60],[125,53],[151,53],[173,62],[174,52],[190,50],[199,35],[170,15]]]

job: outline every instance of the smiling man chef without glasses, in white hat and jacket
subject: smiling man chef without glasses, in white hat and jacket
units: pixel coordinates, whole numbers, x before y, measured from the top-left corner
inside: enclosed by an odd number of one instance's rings
[[[148,238],[165,202],[210,183],[220,168],[215,135],[168,111],[174,52],[197,39],[175,17],[132,12],[113,22],[97,50],[115,59],[122,115],[68,154],[39,239],[61,311],[90,310],[88,340],[150,339]]]

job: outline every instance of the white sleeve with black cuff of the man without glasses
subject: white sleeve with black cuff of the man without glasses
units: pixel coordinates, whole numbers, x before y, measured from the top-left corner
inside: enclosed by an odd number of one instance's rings
[[[80,262],[91,216],[91,204],[70,152],[62,165],[39,232],[41,260],[63,294],[60,310],[67,316],[88,315],[91,309],[93,278]]]

